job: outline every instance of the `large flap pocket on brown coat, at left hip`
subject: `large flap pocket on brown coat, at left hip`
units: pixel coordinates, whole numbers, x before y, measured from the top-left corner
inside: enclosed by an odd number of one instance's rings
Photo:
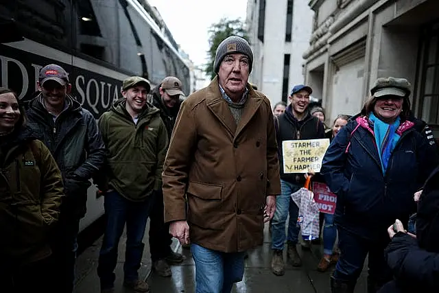
[[[190,182],[187,188],[189,222],[200,228],[224,229],[222,185]]]

